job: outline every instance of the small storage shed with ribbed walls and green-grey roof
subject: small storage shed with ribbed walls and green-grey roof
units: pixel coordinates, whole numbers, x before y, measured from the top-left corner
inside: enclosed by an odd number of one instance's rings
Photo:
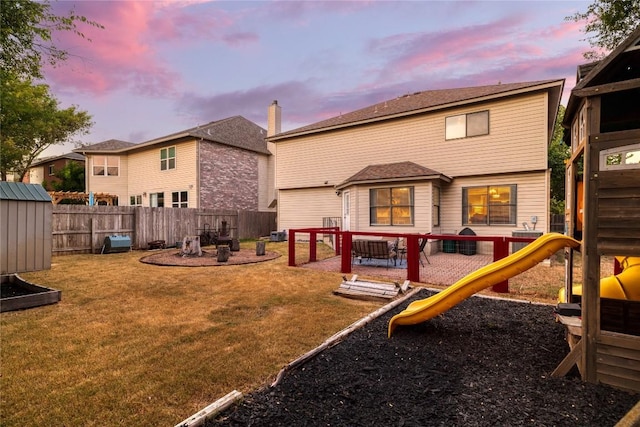
[[[52,211],[41,185],[0,181],[0,274],[51,268]]]

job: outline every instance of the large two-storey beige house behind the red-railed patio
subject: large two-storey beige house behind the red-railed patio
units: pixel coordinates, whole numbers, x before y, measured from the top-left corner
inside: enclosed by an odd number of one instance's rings
[[[547,147],[563,86],[416,92],[270,136],[278,230],[338,217],[361,232],[511,236],[525,222],[547,231]]]

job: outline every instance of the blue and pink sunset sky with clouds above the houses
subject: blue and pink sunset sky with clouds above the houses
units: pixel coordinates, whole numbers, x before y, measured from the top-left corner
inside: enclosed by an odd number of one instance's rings
[[[56,34],[60,107],[85,144],[143,142],[230,116],[282,130],[422,90],[566,79],[589,49],[565,17],[591,1],[58,1],[105,28]],[[89,40],[90,39],[90,40]],[[69,152],[73,143],[47,150]]]

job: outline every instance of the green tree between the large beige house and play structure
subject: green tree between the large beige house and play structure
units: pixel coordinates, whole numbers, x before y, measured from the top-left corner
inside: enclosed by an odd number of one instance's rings
[[[562,140],[564,112],[565,107],[560,105],[547,157],[551,169],[551,213],[564,213],[565,160],[571,155],[571,149]]]

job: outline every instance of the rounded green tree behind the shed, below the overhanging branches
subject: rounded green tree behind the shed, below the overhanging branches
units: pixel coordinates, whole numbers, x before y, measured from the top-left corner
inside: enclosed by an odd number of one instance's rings
[[[34,85],[8,74],[0,83],[0,174],[13,171],[22,181],[33,160],[54,144],[87,133],[91,116],[72,106],[58,109],[58,101],[44,84]]]

